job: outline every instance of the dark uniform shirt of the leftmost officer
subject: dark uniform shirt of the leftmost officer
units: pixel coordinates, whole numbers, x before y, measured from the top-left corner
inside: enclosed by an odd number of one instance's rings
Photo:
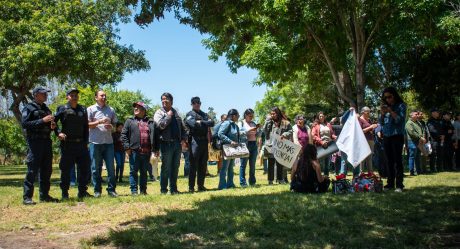
[[[26,132],[28,140],[49,139],[51,122],[45,123],[43,118],[50,115],[51,110],[46,104],[39,105],[37,102],[28,103],[22,109],[22,128]]]

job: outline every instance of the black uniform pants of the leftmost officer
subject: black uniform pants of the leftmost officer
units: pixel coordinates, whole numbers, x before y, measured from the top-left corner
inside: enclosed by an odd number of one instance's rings
[[[34,182],[37,176],[40,179],[40,198],[46,197],[50,191],[50,178],[53,171],[51,139],[27,140],[27,145],[27,173],[23,198],[32,198],[34,195]]]

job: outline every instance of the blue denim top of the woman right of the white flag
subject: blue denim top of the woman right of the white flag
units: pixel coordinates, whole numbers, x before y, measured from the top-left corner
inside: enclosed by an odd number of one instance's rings
[[[382,125],[383,136],[391,137],[395,135],[405,134],[405,119],[406,119],[406,104],[400,103],[390,106],[391,110],[396,113],[396,118],[393,118],[391,113],[385,113],[380,116],[379,123]]]

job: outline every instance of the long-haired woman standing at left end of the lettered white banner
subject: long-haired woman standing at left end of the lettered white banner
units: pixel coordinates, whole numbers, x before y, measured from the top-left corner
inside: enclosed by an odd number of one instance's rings
[[[273,107],[270,111],[271,119],[265,122],[263,131],[265,133],[265,148],[267,149],[268,154],[268,184],[273,184],[275,178],[275,158],[271,150],[272,139],[271,137],[276,134],[281,136],[281,139],[289,139],[292,141],[292,126],[287,120],[286,116],[281,112],[278,107]],[[287,171],[285,170],[283,176],[284,166],[276,163],[276,180],[278,183],[283,184],[287,183]]]

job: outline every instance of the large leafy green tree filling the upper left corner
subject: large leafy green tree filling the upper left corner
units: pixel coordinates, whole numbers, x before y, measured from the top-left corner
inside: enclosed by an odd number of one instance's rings
[[[116,42],[130,14],[121,0],[0,0],[0,92],[16,119],[39,84],[115,84],[149,69],[144,52]]]

